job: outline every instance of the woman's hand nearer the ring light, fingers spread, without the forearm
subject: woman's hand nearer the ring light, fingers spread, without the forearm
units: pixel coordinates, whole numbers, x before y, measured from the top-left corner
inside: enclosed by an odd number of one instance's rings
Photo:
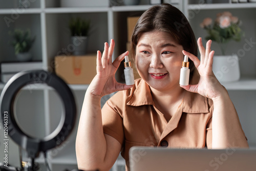
[[[115,73],[120,65],[120,62],[124,59],[124,56],[129,54],[129,52],[124,52],[112,63],[114,47],[115,41],[111,39],[110,46],[107,42],[105,42],[102,55],[100,51],[97,51],[97,74],[88,88],[92,95],[102,97],[116,91],[127,90],[133,87],[119,83],[115,79]]]

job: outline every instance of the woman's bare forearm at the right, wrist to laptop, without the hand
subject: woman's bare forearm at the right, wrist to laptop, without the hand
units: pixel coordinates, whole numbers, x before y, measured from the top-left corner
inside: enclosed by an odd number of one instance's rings
[[[224,91],[212,100],[212,148],[249,147],[228,93]]]

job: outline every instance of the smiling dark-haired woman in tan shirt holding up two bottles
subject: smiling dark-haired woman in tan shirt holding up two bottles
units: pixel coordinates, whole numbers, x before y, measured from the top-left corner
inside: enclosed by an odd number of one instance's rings
[[[129,170],[129,149],[138,145],[248,147],[236,109],[212,72],[211,40],[205,49],[198,39],[200,61],[194,33],[177,8],[154,6],[138,20],[131,57],[141,79],[134,86],[115,80],[129,52],[112,63],[114,44],[97,52],[97,75],[84,97],[76,139],[80,169],[109,170],[121,152]],[[184,55],[190,58],[188,86],[179,85]],[[116,91],[101,111],[101,97]]]

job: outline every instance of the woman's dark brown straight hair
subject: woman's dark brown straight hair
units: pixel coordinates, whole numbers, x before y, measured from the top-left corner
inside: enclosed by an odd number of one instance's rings
[[[131,55],[134,61],[141,34],[155,30],[169,33],[185,51],[197,56],[196,38],[185,15],[170,4],[162,4],[146,10],[134,28],[131,43]],[[189,69],[190,74],[193,74],[195,65],[190,59]]]

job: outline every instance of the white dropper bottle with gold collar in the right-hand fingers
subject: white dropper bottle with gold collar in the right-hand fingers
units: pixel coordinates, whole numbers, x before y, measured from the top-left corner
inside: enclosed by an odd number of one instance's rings
[[[189,82],[189,61],[188,56],[184,56],[184,61],[182,61],[182,68],[180,69],[180,85],[187,86]]]

